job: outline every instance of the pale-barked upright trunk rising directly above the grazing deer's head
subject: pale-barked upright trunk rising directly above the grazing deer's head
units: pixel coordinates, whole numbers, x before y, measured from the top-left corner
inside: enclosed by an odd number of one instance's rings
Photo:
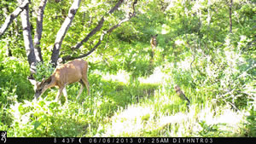
[[[22,0],[18,0],[18,2],[21,4]],[[34,53],[34,47],[32,44],[32,35],[31,35],[31,29],[30,29],[30,23],[29,23],[29,5],[26,5],[26,8],[21,12],[21,24],[23,28],[23,38],[24,38],[24,45],[26,49],[26,56],[27,60],[30,66],[30,72],[35,73],[36,72],[36,56]]]

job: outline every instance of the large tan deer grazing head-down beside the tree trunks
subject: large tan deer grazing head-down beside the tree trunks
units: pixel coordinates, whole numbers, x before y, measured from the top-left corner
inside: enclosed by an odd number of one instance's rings
[[[56,95],[55,101],[59,101],[62,95],[62,91],[67,101],[67,90],[65,86],[67,84],[72,84],[79,82],[82,87],[79,90],[79,96],[83,92],[84,85],[86,85],[87,93],[90,95],[90,86],[87,78],[88,62],[83,59],[69,61],[66,64],[57,66],[55,72],[46,80],[43,79],[42,82],[37,82],[34,78],[29,78],[29,81],[34,85],[35,95],[34,97],[38,100],[38,97],[44,94],[46,89],[52,87],[58,87],[59,91]]]

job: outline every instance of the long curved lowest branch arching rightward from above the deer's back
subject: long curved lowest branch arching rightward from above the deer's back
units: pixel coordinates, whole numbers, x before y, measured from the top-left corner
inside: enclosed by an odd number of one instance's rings
[[[95,45],[92,49],[90,49],[89,52],[87,52],[86,54],[83,54],[83,55],[79,55],[79,56],[70,56],[70,55],[64,56],[64,57],[62,58],[63,62],[65,62],[66,60],[74,60],[74,59],[79,59],[79,58],[86,57],[86,56],[90,55],[93,51],[95,51],[96,48],[102,43],[102,40],[103,40],[103,38],[104,38],[104,36],[105,36],[106,34],[113,32],[113,30],[114,30],[115,28],[121,26],[121,24],[124,23],[125,21],[131,20],[131,18],[136,15],[136,12],[135,12],[135,4],[137,4],[137,0],[135,0],[134,3],[132,4],[133,12],[127,14],[127,16],[126,16],[126,18],[125,18],[124,20],[121,20],[117,25],[112,26],[111,28],[109,28],[108,31],[102,32],[102,36],[99,38],[98,43],[96,43],[96,45]]]

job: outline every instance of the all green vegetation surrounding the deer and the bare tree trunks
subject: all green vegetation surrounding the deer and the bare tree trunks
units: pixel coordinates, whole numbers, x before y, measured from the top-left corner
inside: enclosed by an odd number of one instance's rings
[[[93,49],[103,32],[132,10],[125,1],[82,1],[62,42],[60,57]],[[32,37],[40,1],[31,0]],[[44,62],[34,78],[49,77],[55,37],[72,0],[49,0],[40,41]],[[19,3],[1,0],[0,27]],[[90,96],[67,86],[68,102],[55,102],[57,89],[33,101],[27,80],[20,16],[0,37],[0,130],[8,136],[256,136],[256,4],[248,0],[141,0],[136,14],[84,57]],[[106,16],[102,28],[82,40]],[[158,34],[157,47],[150,37]],[[173,87],[179,85],[190,104]]]

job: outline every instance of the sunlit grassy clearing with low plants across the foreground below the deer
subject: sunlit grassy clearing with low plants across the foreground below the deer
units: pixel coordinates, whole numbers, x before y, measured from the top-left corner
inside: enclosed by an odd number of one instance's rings
[[[57,90],[50,89],[39,101],[16,101],[10,107],[2,106],[1,115],[5,119],[0,128],[15,137],[218,137],[245,136],[252,131],[248,124],[255,124],[247,121],[252,113],[232,110],[228,104],[218,105],[199,89],[184,89],[191,101],[188,107],[176,95],[172,77],[160,69],[132,84],[125,76],[125,72],[90,74],[91,95],[87,96],[84,90],[79,101],[75,100],[79,84],[71,84],[67,88],[69,101],[62,97],[62,105],[54,101]]]

